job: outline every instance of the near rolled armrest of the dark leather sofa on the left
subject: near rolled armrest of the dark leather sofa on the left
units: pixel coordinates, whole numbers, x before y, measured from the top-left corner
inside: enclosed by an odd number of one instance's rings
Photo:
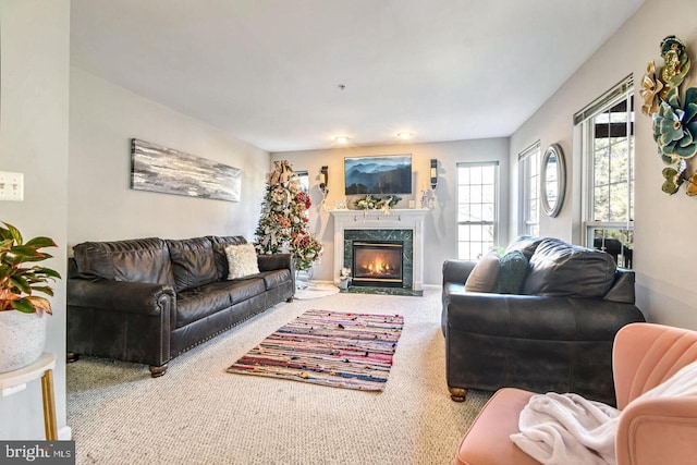
[[[106,279],[69,279],[68,305],[131,314],[159,315],[163,301],[175,301],[171,285]]]

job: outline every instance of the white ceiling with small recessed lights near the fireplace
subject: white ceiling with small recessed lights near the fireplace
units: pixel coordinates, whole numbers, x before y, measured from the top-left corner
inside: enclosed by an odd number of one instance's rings
[[[268,151],[499,137],[643,2],[72,0],[71,54]]]

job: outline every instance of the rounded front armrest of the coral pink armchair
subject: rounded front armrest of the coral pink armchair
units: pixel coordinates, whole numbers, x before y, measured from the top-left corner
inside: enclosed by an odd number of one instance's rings
[[[692,463],[696,437],[697,396],[638,399],[620,416],[617,465]]]

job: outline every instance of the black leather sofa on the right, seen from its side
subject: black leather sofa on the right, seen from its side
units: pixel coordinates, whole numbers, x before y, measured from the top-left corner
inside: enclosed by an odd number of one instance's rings
[[[443,264],[442,330],[454,401],[467,389],[575,392],[614,404],[612,343],[645,321],[634,305],[634,272],[604,252],[557,238],[516,238],[505,254],[527,258],[515,294],[467,292],[476,262]]]

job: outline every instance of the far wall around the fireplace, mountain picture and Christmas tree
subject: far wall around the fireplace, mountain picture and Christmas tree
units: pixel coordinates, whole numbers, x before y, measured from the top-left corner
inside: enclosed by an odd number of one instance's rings
[[[395,208],[408,208],[408,200],[419,206],[420,193],[430,187],[430,160],[438,159],[439,183],[437,188],[437,207],[426,217],[424,249],[424,283],[440,284],[441,269],[447,258],[457,256],[456,229],[456,183],[455,164],[467,161],[499,161],[501,230],[500,237],[508,238],[509,211],[509,139],[475,139],[433,144],[395,144],[371,147],[343,147],[327,150],[286,151],[271,154],[272,160],[286,159],[295,171],[308,171],[310,180],[310,198],[313,207],[309,211],[310,232],[317,234],[325,246],[320,262],[316,264],[313,278],[316,280],[333,280],[339,270],[333,270],[333,218],[323,211],[320,204],[322,196],[318,188],[319,170],[329,167],[329,195],[326,204],[334,206],[335,200],[355,199],[359,196],[344,195],[344,157],[363,157],[375,155],[412,154],[413,194],[402,195],[402,201]]]

